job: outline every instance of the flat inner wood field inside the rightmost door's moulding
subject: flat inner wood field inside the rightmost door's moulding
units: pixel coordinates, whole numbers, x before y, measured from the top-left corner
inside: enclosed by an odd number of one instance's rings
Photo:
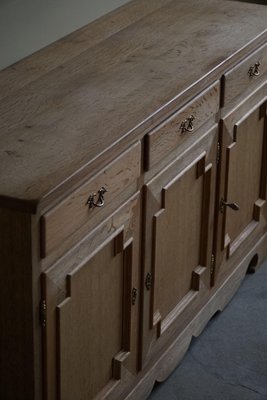
[[[243,231],[254,220],[256,202],[265,200],[260,199],[262,160],[266,157],[266,154],[262,155],[264,123],[257,108],[233,127],[234,142],[228,147],[225,199],[230,203],[236,202],[240,209],[237,212],[229,208],[225,210],[225,235],[230,238],[230,247],[240,235],[244,240],[246,235]],[[246,184],[241,183],[243,179]]]

